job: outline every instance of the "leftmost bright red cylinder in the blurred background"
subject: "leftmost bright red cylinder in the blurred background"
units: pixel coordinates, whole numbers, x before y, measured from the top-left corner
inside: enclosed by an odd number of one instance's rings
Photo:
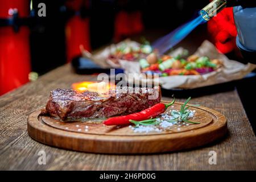
[[[11,17],[11,10],[18,10],[19,18],[29,16],[30,1],[0,0],[0,18]],[[28,82],[30,65],[30,30],[26,26],[0,27],[0,95]]]

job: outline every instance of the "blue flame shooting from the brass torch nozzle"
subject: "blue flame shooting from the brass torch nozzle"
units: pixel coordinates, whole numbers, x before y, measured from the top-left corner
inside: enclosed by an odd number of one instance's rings
[[[182,26],[176,28],[170,34],[167,34],[163,38],[160,38],[155,43],[153,47],[157,48],[159,54],[162,55],[164,52],[168,51],[170,48],[174,47],[177,43],[183,40],[190,32],[192,32],[199,24],[207,22],[201,15],[197,18],[183,24]]]

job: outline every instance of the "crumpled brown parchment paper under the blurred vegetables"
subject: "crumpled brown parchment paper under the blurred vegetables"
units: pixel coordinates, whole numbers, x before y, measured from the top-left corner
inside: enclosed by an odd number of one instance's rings
[[[210,72],[204,75],[179,75],[155,78],[139,77],[139,74],[141,73],[141,68],[139,67],[138,62],[118,60],[119,65],[113,65],[110,64],[108,61],[109,54],[113,53],[115,49],[117,49],[117,47],[121,46],[123,43],[124,42],[121,42],[119,44],[107,47],[103,51],[97,53],[96,55],[90,55],[89,57],[90,59],[96,60],[97,63],[104,63],[105,68],[123,68],[127,75],[126,79],[128,82],[136,81],[140,84],[154,82],[155,84],[159,83],[159,85],[161,85],[164,89],[192,89],[199,88],[202,86],[220,84],[232,80],[239,80],[245,77],[248,73],[250,73],[251,71],[253,71],[253,69],[256,68],[256,65],[254,64],[242,64],[238,61],[229,60],[228,57],[219,53],[212,43],[210,43],[208,40],[205,40],[194,54],[198,56],[208,56],[210,59],[220,59],[223,61],[223,67],[217,69],[214,72]],[[125,43],[131,46],[140,46],[139,43],[130,40],[125,40]],[[175,51],[169,53],[169,55],[176,56],[182,51],[184,51],[184,48],[177,48]]]

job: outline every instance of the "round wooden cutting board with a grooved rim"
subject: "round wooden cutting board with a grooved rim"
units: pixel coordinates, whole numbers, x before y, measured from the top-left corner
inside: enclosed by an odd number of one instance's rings
[[[179,110],[180,105],[181,103],[175,103],[167,111]],[[93,119],[63,122],[39,115],[40,110],[28,117],[27,130],[31,138],[49,146],[105,154],[185,150],[213,142],[226,134],[224,115],[203,106],[191,107],[191,110],[196,111],[191,121],[200,124],[172,126],[170,130],[160,133],[134,133],[129,126],[105,126],[101,121]]]

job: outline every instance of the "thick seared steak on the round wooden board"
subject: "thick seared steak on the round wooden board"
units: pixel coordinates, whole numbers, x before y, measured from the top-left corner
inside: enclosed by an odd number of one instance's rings
[[[135,113],[160,102],[159,87],[118,87],[114,93],[55,89],[42,114],[60,119],[106,118]]]

